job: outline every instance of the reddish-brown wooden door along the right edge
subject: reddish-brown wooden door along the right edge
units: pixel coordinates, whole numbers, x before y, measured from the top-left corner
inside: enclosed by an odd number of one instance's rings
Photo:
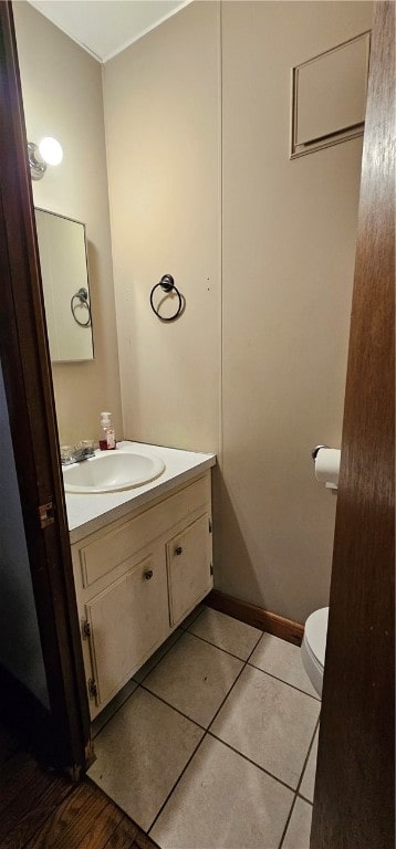
[[[311,849],[394,838],[395,7],[374,12]]]

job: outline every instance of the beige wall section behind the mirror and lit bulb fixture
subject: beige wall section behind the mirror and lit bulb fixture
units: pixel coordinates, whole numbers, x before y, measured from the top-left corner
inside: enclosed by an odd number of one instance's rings
[[[13,4],[28,138],[55,136],[63,163],[33,182],[34,203],[86,224],[95,359],[54,364],[60,441],[100,437],[112,410],[122,436],[102,69],[25,2]]]

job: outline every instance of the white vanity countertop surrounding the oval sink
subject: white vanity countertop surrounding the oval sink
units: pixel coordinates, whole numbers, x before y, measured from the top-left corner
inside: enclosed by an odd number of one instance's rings
[[[116,451],[131,449],[136,451],[146,449],[152,454],[158,454],[165,462],[165,471],[155,481],[122,492],[97,492],[84,495],[66,492],[71,543],[77,543],[87,534],[104,527],[108,522],[122,518],[135,507],[148,504],[174,486],[192,480],[200,472],[216,464],[216,454],[147,446],[143,442],[117,442]]]

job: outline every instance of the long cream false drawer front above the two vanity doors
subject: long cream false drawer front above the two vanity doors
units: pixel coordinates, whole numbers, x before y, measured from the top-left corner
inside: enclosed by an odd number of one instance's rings
[[[210,475],[180,490],[164,502],[101,534],[80,549],[83,587],[88,587],[161,536],[189,513],[210,503]]]

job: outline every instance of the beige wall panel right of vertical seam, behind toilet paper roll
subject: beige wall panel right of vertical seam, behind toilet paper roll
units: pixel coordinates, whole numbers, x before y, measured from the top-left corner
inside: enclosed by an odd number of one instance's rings
[[[291,67],[371,27],[358,2],[226,2],[223,591],[303,620],[329,601],[361,139],[289,160]]]

